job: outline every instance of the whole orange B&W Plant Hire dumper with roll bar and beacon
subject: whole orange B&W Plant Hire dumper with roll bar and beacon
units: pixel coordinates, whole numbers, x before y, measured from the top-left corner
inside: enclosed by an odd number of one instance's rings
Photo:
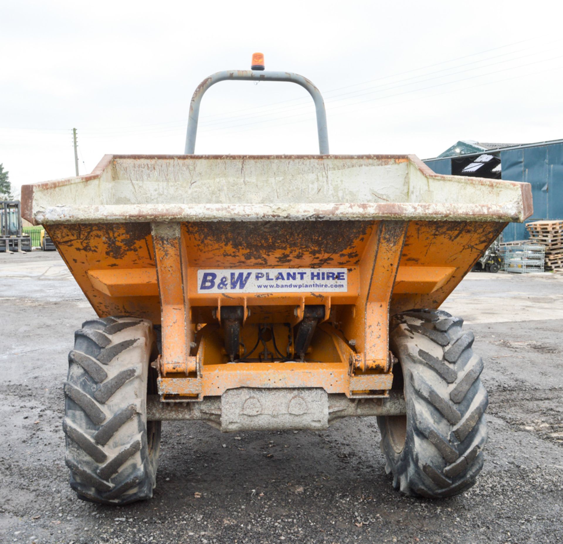
[[[396,489],[461,493],[483,465],[488,397],[473,334],[439,308],[531,215],[530,185],[330,154],[311,81],[260,55],[252,68],[196,88],[184,154],[106,155],[22,188],[97,315],[68,357],[70,486],[108,505],[150,498],[166,420],[238,433],[371,416]],[[303,87],[319,154],[194,154],[222,81]]]

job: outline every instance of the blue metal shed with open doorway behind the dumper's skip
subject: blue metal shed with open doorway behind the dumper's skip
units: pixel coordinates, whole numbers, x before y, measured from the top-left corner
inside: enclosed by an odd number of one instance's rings
[[[481,144],[460,140],[440,156],[424,162],[436,174],[530,183],[534,214],[526,223],[563,219],[563,140],[533,144]],[[522,223],[511,223],[504,229],[503,238],[506,242],[526,240],[528,231]]]

